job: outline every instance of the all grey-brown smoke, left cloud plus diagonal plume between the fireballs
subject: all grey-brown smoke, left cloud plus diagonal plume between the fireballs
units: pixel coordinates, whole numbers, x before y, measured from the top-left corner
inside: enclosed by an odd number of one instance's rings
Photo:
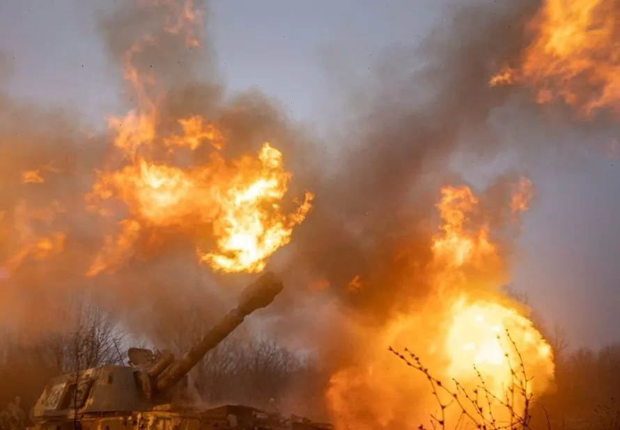
[[[290,284],[274,306],[273,312],[279,315],[276,321],[304,321],[297,319],[301,311],[295,304],[318,300],[318,296],[307,295],[307,285],[317,280],[331,286],[321,302],[336,300],[377,321],[408,306],[412,295],[423,297],[424,262],[429,258],[425,223],[434,216],[438,185],[454,175],[447,160],[456,151],[479,151],[490,157],[499,149],[496,142],[467,136],[483,135],[493,110],[508,97],[490,89],[488,77],[522,47],[522,25],[538,3],[456,8],[419,47],[387,54],[380,68],[385,75],[373,77],[375,85],[367,89],[366,100],[372,100],[371,105],[355,109],[359,120],[348,125],[346,141],[338,142],[345,149],[335,171],[323,168],[326,160],[314,151],[309,134],[267,96],[247,91],[227,98],[208,34],[196,48],[187,46],[184,34],[166,30],[176,24],[168,20],[171,5],[180,3],[126,3],[99,15],[98,31],[109,66],[123,79],[127,52],[132,52],[132,66],[146,83],[145,91],[161,97],[158,132],[173,130],[178,118],[201,115],[217,121],[228,136],[226,156],[254,152],[263,141],[272,141],[295,174],[293,194],[303,190],[316,194],[311,216],[295,231],[293,243],[282,250],[281,258],[276,256],[272,263]],[[201,10],[208,22],[208,8]],[[201,37],[199,33],[191,36]],[[424,59],[424,64],[410,73],[399,70],[403,56],[412,54]],[[9,68],[2,70],[10,73]],[[150,86],[150,78],[157,86]],[[130,107],[139,93],[127,85],[125,89]],[[250,278],[210,274],[194,261],[191,244],[171,234],[166,247],[153,252],[144,238],[134,259],[121,270],[84,279],[104,232],[116,228],[116,219],[98,217],[84,208],[84,194],[95,169],[119,161],[109,158],[112,135],[82,127],[78,112],[46,112],[6,94],[0,113],[2,139],[11,142],[3,146],[2,154],[5,192],[0,203],[7,235],[3,256],[10,258],[15,249],[11,240],[17,240],[14,226],[24,221],[15,213],[20,202],[43,209],[57,201],[59,210],[52,220],[32,220],[29,228],[38,236],[66,233],[61,254],[47,259],[31,255],[5,281],[4,303],[10,309],[5,315],[12,321],[17,318],[24,326],[49,328],[54,312],[46,309],[52,298],[91,289],[139,326],[144,324],[145,312],[157,314],[158,321],[180,312],[183,284],[205,284],[204,291],[214,298],[212,308],[217,309],[215,298],[222,295],[218,284],[240,285]],[[206,151],[196,151],[192,161],[207,156]],[[22,172],[31,169],[41,169],[45,182],[22,184]],[[400,257],[395,256],[397,249]],[[351,294],[346,285],[356,276],[364,288]],[[416,285],[414,291],[410,284]],[[401,300],[404,295],[409,300]],[[320,330],[316,335],[320,336]]]

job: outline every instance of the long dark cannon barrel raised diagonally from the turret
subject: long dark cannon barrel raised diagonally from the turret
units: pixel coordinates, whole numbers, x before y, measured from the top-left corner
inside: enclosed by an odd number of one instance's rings
[[[272,272],[266,272],[247,286],[239,298],[238,306],[211,328],[199,344],[187,351],[183,358],[172,364],[157,378],[156,390],[162,392],[178,383],[192,367],[203,359],[208,351],[226,339],[246,316],[270,305],[283,289],[284,285]]]

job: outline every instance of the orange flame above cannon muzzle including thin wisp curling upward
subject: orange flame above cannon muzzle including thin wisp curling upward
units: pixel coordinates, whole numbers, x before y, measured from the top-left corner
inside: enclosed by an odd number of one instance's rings
[[[192,1],[183,7],[175,1],[157,1],[173,6],[165,30],[185,33],[187,45],[199,45],[194,35],[200,14]],[[86,196],[88,207],[100,215],[114,215],[114,201],[120,200],[128,216],[119,224],[118,235],[105,239],[87,275],[116,268],[130,258],[146,229],[174,231],[196,244],[214,241],[215,247],[197,245],[196,252],[199,261],[215,270],[260,272],[269,256],[290,241],[293,228],[309,212],[313,195],[307,192],[292,213],[284,212],[281,201],[291,174],[284,169],[282,154],[269,143],[256,158],[245,155],[228,161],[220,153],[226,144],[224,133],[206,118],[178,118],[178,130],[160,132],[157,82],[132,64],[133,56],[151,43],[155,40],[146,37],[125,55],[125,79],[137,92],[137,109],[124,118],[109,119],[116,134],[114,146],[126,164],[98,172]],[[206,145],[212,150],[206,162],[177,165],[180,151]]]

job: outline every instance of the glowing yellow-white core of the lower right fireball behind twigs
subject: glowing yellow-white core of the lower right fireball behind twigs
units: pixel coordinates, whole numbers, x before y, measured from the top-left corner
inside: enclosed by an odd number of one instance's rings
[[[463,298],[451,313],[454,318],[446,342],[451,358],[448,374],[475,387],[479,372],[486,390],[496,398],[488,413],[496,420],[509,422],[510,411],[500,404],[506,400],[507,388],[523,383],[527,394],[542,394],[550,386],[554,372],[550,345],[516,307]],[[525,375],[520,374],[521,364]],[[519,412],[525,399],[514,400],[520,403],[513,405]]]

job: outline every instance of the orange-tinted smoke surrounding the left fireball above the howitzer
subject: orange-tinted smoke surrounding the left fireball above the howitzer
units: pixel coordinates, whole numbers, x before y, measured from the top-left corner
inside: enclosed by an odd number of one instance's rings
[[[252,91],[232,100],[224,95],[212,47],[201,34],[203,19],[208,20],[208,8],[184,1],[137,1],[100,13],[98,31],[109,70],[123,89],[121,100],[127,109],[157,105],[156,135],[172,135],[180,118],[202,116],[217,122],[226,135],[225,158],[254,154],[264,141],[272,141],[287,153],[287,161],[292,159],[300,137],[268,98]],[[4,75],[10,79],[11,62],[1,64],[4,82]],[[217,288],[212,272],[197,263],[194,244],[178,238],[174,229],[162,229],[160,241],[145,229],[120,267],[84,276],[127,215],[122,205],[110,217],[100,216],[99,206],[87,208],[97,172],[126,162],[114,150],[114,129],[130,124],[124,123],[125,112],[114,114],[118,118],[109,119],[111,130],[93,131],[79,107],[47,111],[1,93],[3,324],[33,332],[62,330],[63,298],[88,291],[148,337],[153,335],[148,325],[166,325],[188,302],[208,303],[205,311],[218,315],[219,300],[229,301],[231,292]],[[161,153],[161,141],[157,145],[155,152]],[[210,151],[199,148],[184,157],[176,160],[181,166],[200,164]],[[219,281],[231,283],[226,277]],[[153,315],[157,321],[145,323]]]

